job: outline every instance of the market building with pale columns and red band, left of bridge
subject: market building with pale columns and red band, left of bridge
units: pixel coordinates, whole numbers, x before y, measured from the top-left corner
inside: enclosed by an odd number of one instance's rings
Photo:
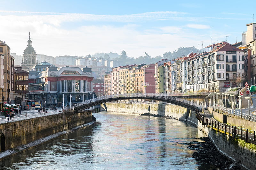
[[[35,78],[36,83],[29,85],[30,94],[41,93],[45,97],[46,106],[64,106],[91,99],[92,86],[91,68],[79,67],[47,67]],[[31,91],[33,89],[33,92]],[[36,90],[34,90],[36,89]],[[37,90],[38,89],[38,90]],[[40,97],[37,100],[42,100]]]

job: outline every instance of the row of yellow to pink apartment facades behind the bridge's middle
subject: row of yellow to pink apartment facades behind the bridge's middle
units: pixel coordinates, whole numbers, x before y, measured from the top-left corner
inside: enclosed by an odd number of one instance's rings
[[[154,93],[154,73],[155,64],[113,68],[110,74],[105,75],[105,94]]]

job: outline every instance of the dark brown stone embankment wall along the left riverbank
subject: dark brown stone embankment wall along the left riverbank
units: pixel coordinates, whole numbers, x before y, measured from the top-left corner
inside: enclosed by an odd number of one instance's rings
[[[0,124],[1,151],[92,122],[92,112],[60,113]]]

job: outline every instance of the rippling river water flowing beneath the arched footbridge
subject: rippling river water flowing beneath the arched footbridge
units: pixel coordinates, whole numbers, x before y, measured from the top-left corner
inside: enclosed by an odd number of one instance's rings
[[[4,159],[0,169],[214,169],[179,144],[204,137],[188,122],[123,113],[94,116],[91,127]]]

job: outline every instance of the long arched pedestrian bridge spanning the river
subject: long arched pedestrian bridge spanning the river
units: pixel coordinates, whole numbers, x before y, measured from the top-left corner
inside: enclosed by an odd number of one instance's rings
[[[180,95],[182,97],[182,95]],[[179,97],[180,97],[179,96]],[[184,96],[184,95],[183,95]],[[202,96],[202,95],[200,95]],[[143,99],[143,100],[158,100],[166,103],[172,103],[174,105],[178,105],[181,107],[185,107],[191,110],[199,110],[202,111],[202,106],[197,105],[194,102],[188,101],[186,99],[181,99],[179,97],[169,96],[165,93],[127,93],[127,94],[116,94],[116,95],[105,95],[97,98],[92,98],[90,100],[84,100],[83,102],[77,103],[72,107],[64,107],[65,110],[73,110],[74,113],[79,113],[84,109],[88,109],[90,107],[110,102],[116,100],[129,100],[129,99]],[[187,97],[188,98],[188,97]],[[194,98],[197,98],[194,96]],[[204,97],[205,98],[205,97]]]

